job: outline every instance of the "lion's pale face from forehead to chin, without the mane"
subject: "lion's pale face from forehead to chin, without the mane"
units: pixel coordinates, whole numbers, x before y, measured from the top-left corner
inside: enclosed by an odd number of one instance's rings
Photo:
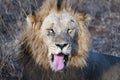
[[[43,39],[48,47],[50,66],[54,71],[61,71],[69,65],[74,49],[78,24],[70,13],[50,13],[41,26]]]

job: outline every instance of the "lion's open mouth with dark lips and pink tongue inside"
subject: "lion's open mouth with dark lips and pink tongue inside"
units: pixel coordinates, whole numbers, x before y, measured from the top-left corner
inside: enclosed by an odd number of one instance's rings
[[[59,54],[52,54],[52,68],[55,71],[61,71],[65,69],[67,62],[68,62],[68,55],[65,55],[64,53]]]

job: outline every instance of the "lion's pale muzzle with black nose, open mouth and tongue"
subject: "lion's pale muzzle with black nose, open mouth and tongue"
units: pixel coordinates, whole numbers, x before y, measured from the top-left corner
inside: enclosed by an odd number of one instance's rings
[[[53,45],[51,45],[52,47]],[[57,36],[54,41],[54,48],[49,49],[51,55],[51,67],[54,71],[62,71],[67,68],[71,55],[71,45],[65,37]]]

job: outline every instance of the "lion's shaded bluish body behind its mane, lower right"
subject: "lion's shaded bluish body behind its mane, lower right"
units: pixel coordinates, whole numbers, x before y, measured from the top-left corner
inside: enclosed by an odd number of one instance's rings
[[[85,78],[90,80],[119,80],[120,57],[90,52]],[[113,78],[114,79],[113,79]]]

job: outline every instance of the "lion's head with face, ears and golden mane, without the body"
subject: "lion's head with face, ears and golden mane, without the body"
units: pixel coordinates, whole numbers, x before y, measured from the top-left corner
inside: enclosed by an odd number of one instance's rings
[[[45,69],[83,68],[91,42],[85,26],[88,20],[88,15],[72,10],[66,0],[59,4],[57,0],[48,0],[36,15],[27,17],[22,53]]]

